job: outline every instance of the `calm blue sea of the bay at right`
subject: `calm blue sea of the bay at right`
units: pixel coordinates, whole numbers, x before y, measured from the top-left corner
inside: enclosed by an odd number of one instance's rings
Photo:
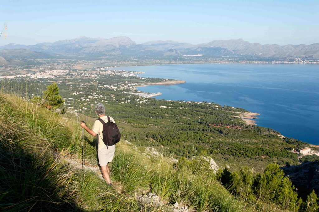
[[[121,67],[185,84],[140,87],[157,99],[211,101],[260,113],[257,125],[319,144],[319,65],[191,64]]]

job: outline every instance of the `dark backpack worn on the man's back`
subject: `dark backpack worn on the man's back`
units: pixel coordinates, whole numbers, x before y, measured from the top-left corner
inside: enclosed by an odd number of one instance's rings
[[[110,117],[108,117],[108,122],[105,123],[102,119],[97,119],[103,124],[103,130],[102,130],[102,137],[103,142],[107,146],[113,146],[121,139],[121,133],[119,128],[116,126],[116,124],[110,120]]]

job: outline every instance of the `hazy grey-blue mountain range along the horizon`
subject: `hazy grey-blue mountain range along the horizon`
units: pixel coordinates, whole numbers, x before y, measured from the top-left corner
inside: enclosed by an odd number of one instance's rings
[[[319,43],[310,45],[251,44],[243,39],[214,40],[204,44],[171,40],[136,44],[128,37],[60,40],[35,45],[0,46],[3,58],[50,58],[56,56],[90,56],[108,58],[246,58],[246,59],[319,59]]]

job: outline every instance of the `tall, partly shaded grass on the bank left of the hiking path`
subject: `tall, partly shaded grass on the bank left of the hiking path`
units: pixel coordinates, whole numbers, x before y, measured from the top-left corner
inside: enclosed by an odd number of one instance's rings
[[[142,206],[96,174],[68,165],[81,132],[60,115],[0,93],[0,210],[99,211]],[[95,154],[88,151],[87,154]],[[79,156],[80,157],[80,156]],[[145,207],[144,207],[145,208]]]

